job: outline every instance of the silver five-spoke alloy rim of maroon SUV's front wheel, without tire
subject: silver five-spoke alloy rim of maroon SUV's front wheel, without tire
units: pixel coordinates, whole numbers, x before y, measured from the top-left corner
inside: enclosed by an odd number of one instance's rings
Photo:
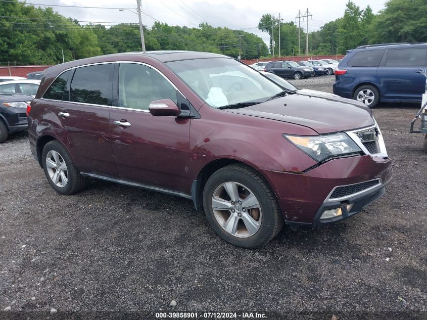
[[[219,225],[234,237],[251,237],[261,226],[262,212],[258,199],[238,182],[224,182],[215,189],[212,209]]]

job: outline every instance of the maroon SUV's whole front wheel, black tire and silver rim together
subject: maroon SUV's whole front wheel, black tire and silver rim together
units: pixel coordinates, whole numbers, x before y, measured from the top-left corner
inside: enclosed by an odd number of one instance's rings
[[[277,199],[267,182],[244,165],[228,165],[209,177],[203,207],[213,230],[243,248],[265,245],[283,226]]]

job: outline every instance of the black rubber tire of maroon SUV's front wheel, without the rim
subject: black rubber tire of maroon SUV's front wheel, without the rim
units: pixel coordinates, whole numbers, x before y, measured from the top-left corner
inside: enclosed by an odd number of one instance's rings
[[[214,192],[219,186],[228,181],[246,186],[259,202],[262,212],[261,223],[258,231],[247,238],[239,238],[225,231],[213,212],[212,199]],[[209,177],[203,190],[203,207],[213,230],[225,241],[243,248],[252,249],[265,245],[277,235],[283,226],[283,218],[273,191],[258,172],[244,165],[228,165]]]

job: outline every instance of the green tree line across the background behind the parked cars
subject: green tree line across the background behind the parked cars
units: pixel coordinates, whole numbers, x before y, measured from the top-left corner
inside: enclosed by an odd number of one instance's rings
[[[155,22],[145,26],[147,50],[195,50],[221,53],[242,59],[271,57],[272,43],[278,54],[279,26],[275,18],[262,15],[258,28],[270,34],[270,45],[244,30],[213,27],[171,26]],[[300,28],[301,54],[305,53],[305,32]],[[274,33],[274,41],[272,35]],[[361,9],[352,1],[342,18],[309,32],[309,55],[345,54],[362,44],[384,42],[427,42],[427,2],[389,0],[374,14],[370,6]],[[0,6],[0,64],[57,64],[103,54],[140,51],[139,26],[132,23],[81,24],[52,8],[36,8],[18,0]],[[298,26],[280,24],[282,56],[298,55]]]

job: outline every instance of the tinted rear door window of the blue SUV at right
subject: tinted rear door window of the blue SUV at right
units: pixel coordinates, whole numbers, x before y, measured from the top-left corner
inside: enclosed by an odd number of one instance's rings
[[[390,49],[387,53],[387,67],[425,66],[427,48]]]

